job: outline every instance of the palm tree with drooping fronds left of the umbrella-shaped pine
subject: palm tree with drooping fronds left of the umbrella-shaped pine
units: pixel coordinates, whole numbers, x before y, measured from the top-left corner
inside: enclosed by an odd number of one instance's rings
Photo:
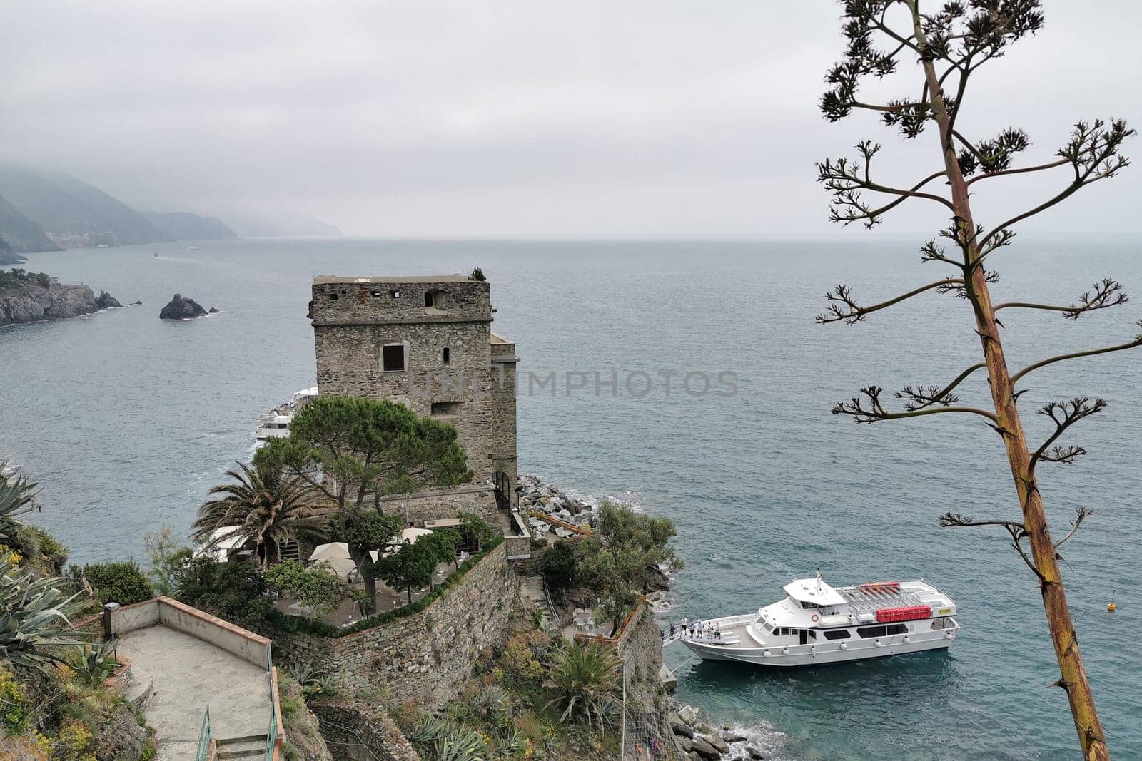
[[[263,566],[281,560],[281,545],[298,539],[319,539],[329,529],[330,512],[316,504],[312,489],[299,478],[280,469],[249,467],[227,470],[232,484],[210,489],[218,495],[199,508],[199,519],[191,527],[192,537],[208,547],[225,536],[219,528],[233,527],[252,542]]]

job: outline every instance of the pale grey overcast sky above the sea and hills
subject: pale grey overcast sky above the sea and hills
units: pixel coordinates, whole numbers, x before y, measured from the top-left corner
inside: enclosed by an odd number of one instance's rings
[[[1142,8],[1045,6],[960,122],[1024,127],[1031,161],[1077,119],[1142,126]],[[939,162],[932,133],[903,146],[870,115],[820,116],[838,17],[830,0],[9,1],[0,155],[144,209],[299,210],[354,235],[821,235],[814,161],[872,137],[888,180]],[[976,218],[1065,180],[981,194]],[[1142,229],[1140,189],[1142,164],[1038,229]],[[941,226],[923,204],[883,229]]]

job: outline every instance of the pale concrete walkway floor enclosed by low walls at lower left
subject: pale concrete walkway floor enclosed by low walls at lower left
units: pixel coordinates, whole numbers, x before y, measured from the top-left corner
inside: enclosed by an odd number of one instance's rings
[[[164,626],[129,632],[115,649],[130,658],[136,682],[154,685],[144,713],[158,732],[159,761],[194,759],[208,705],[216,739],[265,735],[270,728],[265,669]]]

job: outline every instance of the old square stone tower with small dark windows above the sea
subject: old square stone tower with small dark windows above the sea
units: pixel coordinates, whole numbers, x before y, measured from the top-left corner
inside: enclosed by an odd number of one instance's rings
[[[456,426],[476,481],[515,503],[515,345],[491,331],[490,284],[463,275],[313,281],[322,395],[391,399]]]

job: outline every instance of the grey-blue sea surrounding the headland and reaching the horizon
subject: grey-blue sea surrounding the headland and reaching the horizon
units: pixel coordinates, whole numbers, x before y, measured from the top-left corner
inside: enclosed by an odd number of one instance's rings
[[[1036,241],[1004,251],[998,298],[1072,299],[1110,274],[1142,286],[1139,241]],[[860,386],[943,383],[978,359],[970,313],[926,296],[867,324],[819,326],[836,282],[888,296],[940,276],[916,241],[381,242],[236,241],[37,254],[29,266],[143,307],[0,330],[0,458],[45,484],[37,519],[75,560],[139,554],[140,535],[190,524],[222,470],[251,451],[256,413],[314,381],[305,317],[316,274],[426,274],[482,265],[494,329],[521,372],[587,373],[520,398],[521,471],[624,495],[671,517],[686,561],[673,616],[747,612],[820,568],[836,583],[923,576],[952,594],[964,632],[947,654],[767,672],[691,661],[679,697],[781,732],[810,759],[1071,759],[1076,739],[1034,578],[988,529],[940,529],[946,510],[1018,515],[998,437],[972,420],[853,426],[828,413]],[[160,253],[159,258],[152,256]],[[895,285],[882,278],[892,276]],[[174,292],[223,314],[158,319]],[[1132,337],[1137,302],[1078,323],[1005,317],[1011,362]],[[594,373],[617,373],[614,397]],[[627,391],[630,372],[653,386]],[[660,371],[677,372],[666,395]],[[734,396],[679,392],[686,372],[735,374]],[[1064,548],[1068,592],[1117,758],[1142,758],[1142,353],[1029,377],[1021,407],[1097,394],[1107,411],[1069,443],[1089,456],[1043,471],[1056,527],[1095,509]],[[578,379],[578,377],[576,377]],[[697,379],[698,377],[694,377]],[[526,375],[523,375],[524,383]],[[694,381],[697,383],[697,380]],[[641,375],[633,389],[641,392]],[[697,387],[697,386],[695,386]],[[976,383],[964,402],[986,403]],[[526,391],[524,388],[523,391]],[[1056,528],[1057,533],[1057,528]],[[1105,613],[1110,590],[1118,612]],[[668,649],[678,665],[684,649]]]

